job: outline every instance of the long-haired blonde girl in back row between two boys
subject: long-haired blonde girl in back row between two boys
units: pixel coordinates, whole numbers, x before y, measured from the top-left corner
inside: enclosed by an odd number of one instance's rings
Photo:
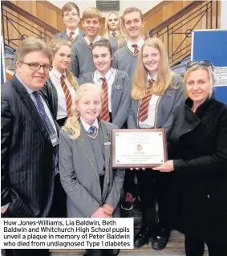
[[[113,53],[125,45],[126,39],[122,30],[122,21],[115,11],[111,11],[106,17],[103,38],[110,41]]]

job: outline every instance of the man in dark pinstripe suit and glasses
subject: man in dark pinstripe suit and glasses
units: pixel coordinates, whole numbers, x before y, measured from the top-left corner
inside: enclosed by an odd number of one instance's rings
[[[51,52],[42,40],[28,38],[18,47],[16,59],[16,74],[1,90],[1,213],[50,217],[59,131],[38,90],[48,78]],[[46,254],[47,250],[6,250],[14,256]]]

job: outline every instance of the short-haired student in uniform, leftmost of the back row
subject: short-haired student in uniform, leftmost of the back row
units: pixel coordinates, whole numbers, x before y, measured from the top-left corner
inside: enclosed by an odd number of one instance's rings
[[[74,2],[67,2],[62,8],[63,22],[67,27],[66,30],[55,35],[56,39],[69,39],[75,43],[80,37],[85,35],[83,30],[78,27],[79,8]]]

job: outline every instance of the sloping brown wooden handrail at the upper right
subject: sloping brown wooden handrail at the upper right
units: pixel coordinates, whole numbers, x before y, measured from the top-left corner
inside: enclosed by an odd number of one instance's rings
[[[165,27],[169,26],[173,22],[176,22],[177,19],[182,18],[185,14],[188,14],[189,11],[194,10],[197,6],[200,6],[202,3],[206,2],[206,0],[202,1],[193,1],[185,6],[182,10],[178,11],[178,13],[173,14],[171,17],[167,18],[164,22],[161,22],[158,26],[149,30],[148,34],[152,37],[158,31],[163,30]]]

